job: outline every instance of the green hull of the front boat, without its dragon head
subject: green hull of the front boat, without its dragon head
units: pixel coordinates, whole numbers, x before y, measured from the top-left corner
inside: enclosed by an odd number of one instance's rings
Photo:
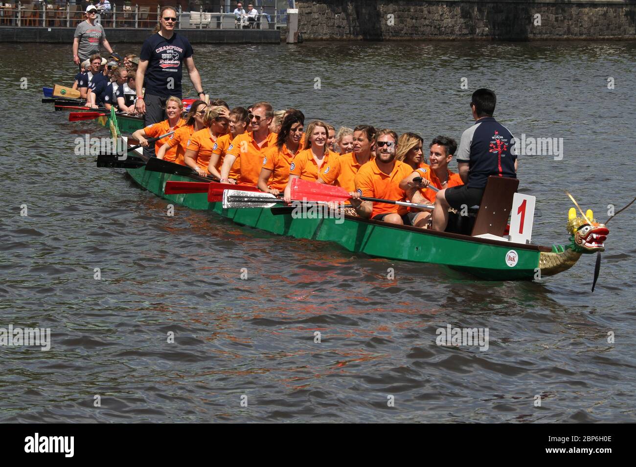
[[[213,210],[237,224],[273,234],[331,241],[351,252],[374,257],[443,264],[485,280],[532,280],[539,267],[540,247],[535,245],[391,226],[351,216],[323,218],[321,212],[315,219],[307,219],[294,218],[291,209],[279,215],[267,208],[223,209],[221,203],[209,203],[207,193],[163,193],[167,180],[188,181],[188,177],[149,172],[143,167],[127,171],[140,186],[166,200],[192,209]],[[510,255],[511,250],[514,253]],[[513,266],[509,266],[510,257],[516,258]]]

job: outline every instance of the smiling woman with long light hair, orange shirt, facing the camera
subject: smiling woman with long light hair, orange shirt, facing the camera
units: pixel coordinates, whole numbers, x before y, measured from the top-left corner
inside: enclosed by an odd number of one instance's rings
[[[340,156],[329,151],[327,140],[329,129],[327,124],[314,120],[307,126],[305,137],[305,149],[294,156],[294,160],[289,166],[289,180],[285,187],[284,200],[291,203],[291,182],[294,179],[318,180],[318,173],[325,163],[331,163],[333,159]]]

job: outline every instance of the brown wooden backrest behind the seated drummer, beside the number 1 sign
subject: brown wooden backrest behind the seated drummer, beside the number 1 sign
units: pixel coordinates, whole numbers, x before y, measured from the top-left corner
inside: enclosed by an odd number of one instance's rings
[[[503,236],[518,186],[518,179],[496,175],[488,177],[471,235],[489,233]]]

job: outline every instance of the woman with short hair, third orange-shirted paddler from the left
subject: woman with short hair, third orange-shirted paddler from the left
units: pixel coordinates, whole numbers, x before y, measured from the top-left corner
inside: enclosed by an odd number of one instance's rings
[[[183,161],[202,177],[207,177],[209,174],[207,166],[216,140],[228,132],[227,115],[228,109],[220,105],[207,109],[204,116],[204,124],[207,128],[192,133],[190,137]]]

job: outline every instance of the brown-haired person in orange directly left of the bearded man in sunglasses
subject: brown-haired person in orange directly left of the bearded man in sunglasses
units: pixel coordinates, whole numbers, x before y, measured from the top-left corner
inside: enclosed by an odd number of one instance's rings
[[[356,191],[356,173],[363,164],[374,158],[371,150],[375,144],[375,128],[370,125],[356,126],[353,140],[353,152],[342,154],[335,159],[335,163],[322,168],[318,183],[336,184],[347,191]]]

